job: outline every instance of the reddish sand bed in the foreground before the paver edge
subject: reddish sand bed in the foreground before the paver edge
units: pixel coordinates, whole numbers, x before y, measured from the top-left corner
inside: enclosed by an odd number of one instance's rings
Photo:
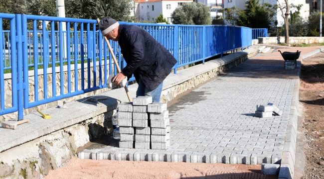
[[[278,179],[260,165],[134,162],[72,159],[45,179]]]

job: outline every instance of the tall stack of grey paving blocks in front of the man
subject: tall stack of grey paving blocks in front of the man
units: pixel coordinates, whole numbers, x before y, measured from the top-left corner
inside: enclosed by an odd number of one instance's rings
[[[133,98],[118,107],[120,148],[167,149],[170,123],[166,103],[153,102],[151,96]]]

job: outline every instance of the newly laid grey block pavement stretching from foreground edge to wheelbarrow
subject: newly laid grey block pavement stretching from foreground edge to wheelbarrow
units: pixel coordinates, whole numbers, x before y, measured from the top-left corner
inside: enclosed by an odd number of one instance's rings
[[[165,151],[121,149],[115,144],[85,150],[85,158],[135,160],[134,154],[143,154],[143,160],[149,161],[176,162],[173,159],[177,158],[180,162],[226,164],[278,162],[282,158],[297,70],[248,62],[168,107],[170,147]],[[256,105],[269,102],[283,110],[283,115],[255,117]]]

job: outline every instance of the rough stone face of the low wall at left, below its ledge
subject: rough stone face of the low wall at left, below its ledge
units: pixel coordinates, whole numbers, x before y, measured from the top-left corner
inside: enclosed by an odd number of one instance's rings
[[[42,179],[77,157],[93,138],[112,133],[111,110],[0,153],[0,179]]]

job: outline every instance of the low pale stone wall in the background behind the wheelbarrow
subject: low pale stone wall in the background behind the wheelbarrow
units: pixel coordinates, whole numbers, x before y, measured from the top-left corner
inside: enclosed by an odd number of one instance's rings
[[[259,44],[285,43],[285,37],[259,37]],[[324,37],[289,37],[289,43],[312,44],[323,43]]]

